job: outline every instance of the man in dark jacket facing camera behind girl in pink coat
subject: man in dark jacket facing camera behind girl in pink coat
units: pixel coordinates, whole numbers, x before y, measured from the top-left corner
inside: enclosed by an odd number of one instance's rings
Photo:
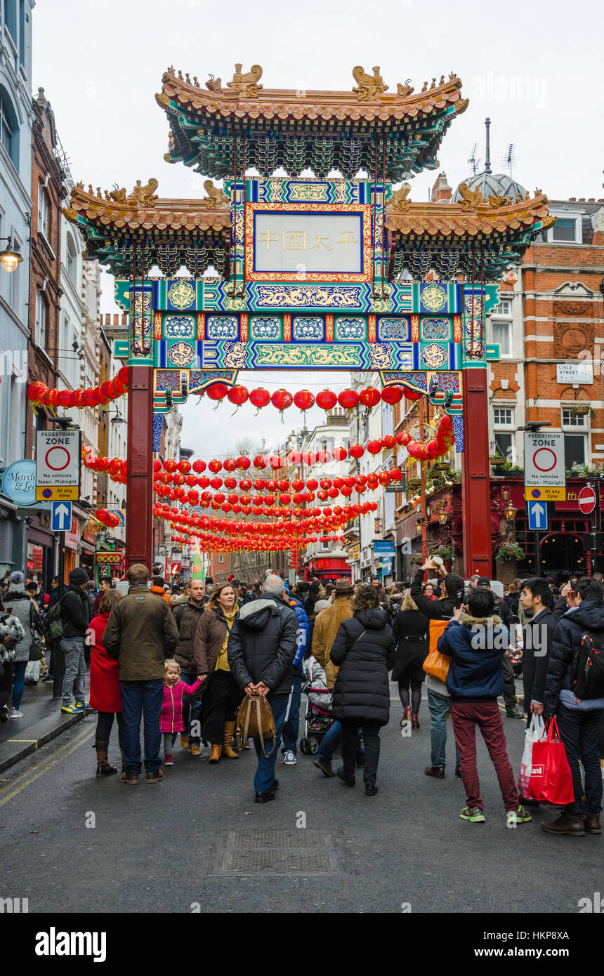
[[[203,580],[191,580],[188,599],[177,607],[174,615],[179,629],[179,642],[174,652],[174,660],[181,668],[181,680],[186,685],[193,685],[199,677],[193,654],[193,639],[206,606],[206,588]],[[195,756],[201,755],[200,711],[200,699],[187,694],[182,695],[184,731],[181,732],[181,749],[190,749],[191,755]]]

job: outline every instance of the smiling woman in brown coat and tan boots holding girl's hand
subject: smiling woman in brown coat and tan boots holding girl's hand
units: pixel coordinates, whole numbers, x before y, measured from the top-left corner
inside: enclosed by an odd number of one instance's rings
[[[219,584],[199,618],[193,639],[197,673],[203,679],[203,738],[212,745],[208,760],[211,763],[220,762],[221,755],[239,758],[231,744],[241,692],[231,676],[226,655],[230,629],[238,612],[235,590],[230,583]]]

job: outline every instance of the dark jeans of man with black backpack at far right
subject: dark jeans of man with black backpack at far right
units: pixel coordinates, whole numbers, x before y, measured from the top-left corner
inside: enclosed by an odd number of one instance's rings
[[[566,709],[562,703],[556,712],[560,738],[573,776],[575,802],[566,809],[570,813],[599,813],[602,809],[602,774],[598,750],[601,709],[579,712]],[[585,785],[581,785],[581,766],[584,764]],[[585,802],[582,796],[585,796]]]

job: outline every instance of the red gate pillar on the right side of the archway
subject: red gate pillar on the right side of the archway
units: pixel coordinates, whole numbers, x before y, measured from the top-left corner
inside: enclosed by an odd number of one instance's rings
[[[463,371],[463,572],[491,579],[491,477],[486,369]]]

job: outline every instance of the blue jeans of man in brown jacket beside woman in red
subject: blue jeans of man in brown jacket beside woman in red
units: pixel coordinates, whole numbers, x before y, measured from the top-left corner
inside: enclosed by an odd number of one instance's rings
[[[141,716],[144,719],[144,768],[156,773],[161,766],[161,715],[163,678],[152,681],[120,681],[124,707],[124,762],[129,776],[141,772]]]

